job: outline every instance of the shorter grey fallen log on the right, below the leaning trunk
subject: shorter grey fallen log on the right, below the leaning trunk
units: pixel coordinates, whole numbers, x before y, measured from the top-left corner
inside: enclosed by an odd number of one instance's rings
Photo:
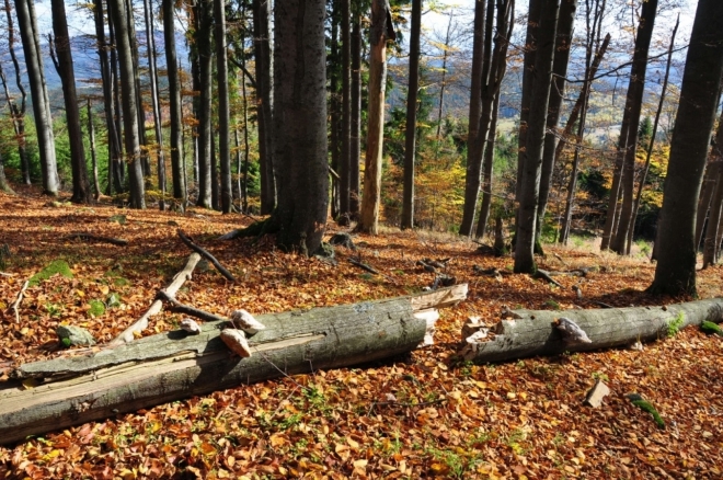
[[[723,321],[723,298],[667,307],[631,307],[595,310],[512,310],[513,320],[490,329],[494,335],[469,336],[460,355],[477,363],[505,362],[535,355],[554,355],[646,342],[675,334],[687,325]],[[582,328],[592,343],[569,344],[552,322],[567,318]],[[469,332],[469,325],[468,330]]]

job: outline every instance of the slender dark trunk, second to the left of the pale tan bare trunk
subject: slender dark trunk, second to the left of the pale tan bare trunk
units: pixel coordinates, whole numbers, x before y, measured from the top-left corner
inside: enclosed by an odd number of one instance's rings
[[[415,0],[418,1],[418,0]],[[352,1],[340,0],[341,3],[341,19],[340,24],[342,27],[342,122],[340,130],[340,139],[342,153],[340,156],[338,170],[336,171],[341,176],[338,182],[338,224],[342,226],[349,225],[352,220],[352,213],[349,207],[352,188],[351,188],[351,144],[352,136]]]

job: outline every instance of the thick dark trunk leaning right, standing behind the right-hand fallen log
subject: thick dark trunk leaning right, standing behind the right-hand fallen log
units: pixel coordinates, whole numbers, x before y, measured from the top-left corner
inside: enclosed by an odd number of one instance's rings
[[[723,3],[700,0],[682,75],[649,292],[696,295],[696,207],[723,72]]]

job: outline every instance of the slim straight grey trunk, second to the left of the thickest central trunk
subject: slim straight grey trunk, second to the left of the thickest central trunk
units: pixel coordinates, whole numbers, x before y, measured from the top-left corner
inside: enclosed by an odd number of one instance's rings
[[[221,212],[230,214],[233,206],[231,191],[231,113],[229,107],[229,68],[226,54],[226,7],[225,0],[214,0],[216,27],[216,75],[218,84],[218,162],[221,170]]]

